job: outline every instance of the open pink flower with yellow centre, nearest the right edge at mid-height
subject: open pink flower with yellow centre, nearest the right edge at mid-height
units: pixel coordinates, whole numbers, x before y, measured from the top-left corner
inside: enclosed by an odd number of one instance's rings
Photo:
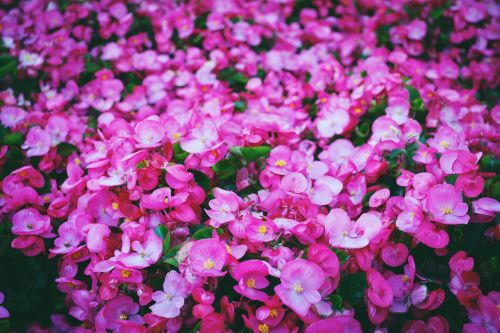
[[[470,219],[462,194],[449,184],[436,185],[429,190],[426,209],[433,221],[443,224],[467,224]]]

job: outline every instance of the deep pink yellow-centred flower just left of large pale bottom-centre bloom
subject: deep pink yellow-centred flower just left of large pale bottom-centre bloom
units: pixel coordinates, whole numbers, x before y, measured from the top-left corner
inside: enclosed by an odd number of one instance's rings
[[[269,285],[265,278],[269,274],[267,263],[261,260],[246,260],[238,264],[231,272],[233,278],[238,281],[234,286],[237,293],[254,301],[266,301],[269,296],[259,290]]]

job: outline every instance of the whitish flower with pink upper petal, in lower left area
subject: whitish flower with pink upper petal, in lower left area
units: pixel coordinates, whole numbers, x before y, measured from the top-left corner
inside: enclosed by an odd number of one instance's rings
[[[134,253],[122,253],[116,260],[127,267],[145,268],[155,264],[162,254],[163,241],[154,230],[148,230],[142,235],[141,241],[132,242]]]

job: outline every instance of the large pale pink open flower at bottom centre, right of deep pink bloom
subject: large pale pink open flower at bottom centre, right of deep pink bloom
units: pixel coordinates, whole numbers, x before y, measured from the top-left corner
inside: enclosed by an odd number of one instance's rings
[[[296,259],[281,271],[281,284],[274,290],[281,301],[301,316],[306,316],[311,305],[321,301],[318,289],[325,279],[323,270],[310,261]]]

